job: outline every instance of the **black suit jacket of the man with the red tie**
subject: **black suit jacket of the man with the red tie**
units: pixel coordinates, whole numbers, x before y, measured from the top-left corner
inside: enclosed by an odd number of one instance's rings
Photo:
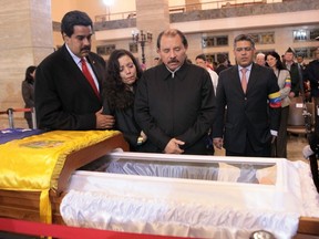
[[[95,53],[86,58],[100,84],[105,80],[105,61]],[[34,101],[41,129],[95,129],[95,113],[102,102],[73,61],[65,45],[44,59],[37,69]]]

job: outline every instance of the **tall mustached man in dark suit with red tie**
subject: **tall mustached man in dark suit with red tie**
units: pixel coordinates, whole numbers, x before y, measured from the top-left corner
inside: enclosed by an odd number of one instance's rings
[[[61,33],[63,46],[37,69],[38,127],[45,131],[112,128],[114,118],[102,114],[100,98],[105,61],[90,52],[92,20],[81,11],[68,12],[61,22]]]

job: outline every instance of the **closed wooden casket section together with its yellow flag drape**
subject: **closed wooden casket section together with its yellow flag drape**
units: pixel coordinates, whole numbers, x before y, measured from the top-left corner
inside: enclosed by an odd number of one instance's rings
[[[64,224],[60,202],[71,174],[115,148],[128,150],[116,131],[54,131],[1,144],[0,217]]]

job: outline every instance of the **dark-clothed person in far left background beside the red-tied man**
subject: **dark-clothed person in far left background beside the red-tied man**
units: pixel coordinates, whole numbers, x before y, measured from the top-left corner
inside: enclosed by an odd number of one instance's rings
[[[35,79],[35,65],[30,65],[25,70],[25,76],[21,84],[22,97],[24,101],[24,108],[34,107],[34,79]],[[29,128],[33,128],[31,112],[24,112],[24,118]]]

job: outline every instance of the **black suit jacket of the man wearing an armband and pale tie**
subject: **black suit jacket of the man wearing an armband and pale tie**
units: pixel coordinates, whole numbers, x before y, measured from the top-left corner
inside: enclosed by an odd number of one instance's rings
[[[238,154],[245,152],[248,141],[254,150],[269,147],[270,129],[279,128],[281,107],[269,107],[268,102],[268,95],[276,92],[279,92],[279,86],[271,69],[253,63],[246,94],[237,65],[220,72],[213,137],[224,136],[226,150]]]

